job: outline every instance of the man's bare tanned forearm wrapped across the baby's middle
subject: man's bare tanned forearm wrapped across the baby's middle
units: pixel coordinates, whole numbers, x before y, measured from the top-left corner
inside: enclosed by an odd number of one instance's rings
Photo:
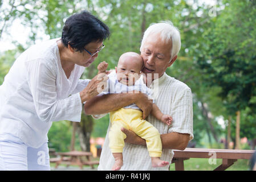
[[[87,115],[104,114],[136,102],[139,94],[119,93],[95,96],[84,105]]]

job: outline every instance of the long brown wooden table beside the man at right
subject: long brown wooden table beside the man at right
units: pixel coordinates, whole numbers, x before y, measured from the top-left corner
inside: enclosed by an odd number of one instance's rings
[[[172,163],[175,163],[176,171],[184,171],[184,160],[189,158],[212,158],[222,159],[222,164],[214,171],[224,171],[230,167],[237,159],[251,159],[255,150],[231,150],[215,148],[186,148],[184,151],[173,150]]]

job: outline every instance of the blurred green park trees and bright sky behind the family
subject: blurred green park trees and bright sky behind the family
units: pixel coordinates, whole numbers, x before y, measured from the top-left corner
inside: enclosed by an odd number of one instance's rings
[[[172,20],[181,33],[181,50],[166,73],[192,89],[194,139],[189,146],[255,150],[255,0],[0,0],[0,85],[23,51],[59,38],[68,16],[82,10],[103,20],[111,31],[82,78],[94,77],[100,61],[113,69],[123,52],[139,53],[145,29]],[[95,120],[85,114],[76,125],[54,122],[49,147],[60,152],[100,148],[108,123],[108,115]],[[230,169],[247,170],[248,164],[238,160]],[[185,169],[212,168],[203,159],[185,162]]]

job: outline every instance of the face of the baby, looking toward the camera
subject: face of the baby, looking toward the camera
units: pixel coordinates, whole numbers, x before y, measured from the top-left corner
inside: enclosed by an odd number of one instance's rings
[[[121,56],[116,68],[117,80],[124,85],[131,86],[140,78],[143,60],[140,56]]]

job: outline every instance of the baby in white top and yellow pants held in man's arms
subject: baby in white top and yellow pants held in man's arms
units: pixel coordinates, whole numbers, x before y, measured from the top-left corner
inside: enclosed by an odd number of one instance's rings
[[[97,66],[98,73],[105,73],[107,67],[108,64],[105,61],[101,62]],[[108,75],[107,93],[131,93],[137,91],[137,93],[145,93],[150,97],[152,95],[151,89],[143,83],[143,79],[139,79],[142,68],[143,59],[139,54],[126,52],[121,55],[115,71]],[[172,122],[172,117],[162,114],[154,101],[151,114],[161,122],[166,123],[166,125],[170,125]],[[159,131],[142,117],[142,111],[135,104],[109,113],[112,124],[109,130],[109,147],[115,158],[112,170],[119,170],[123,166],[123,147],[126,135],[121,131],[121,127],[132,130],[146,140],[152,167],[163,167],[169,164],[169,162],[160,159],[162,143]]]

